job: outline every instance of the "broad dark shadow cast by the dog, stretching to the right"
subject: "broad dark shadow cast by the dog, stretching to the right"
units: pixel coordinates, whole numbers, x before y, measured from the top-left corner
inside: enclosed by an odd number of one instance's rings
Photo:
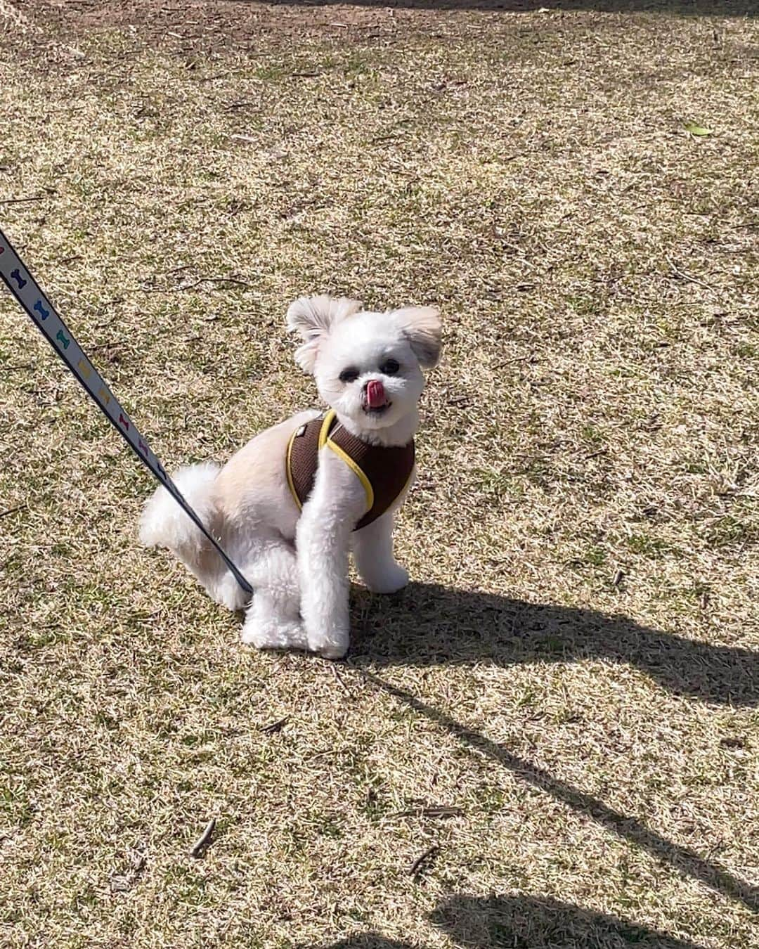
[[[411,584],[390,597],[351,594],[351,661],[359,666],[602,659],[627,662],[670,692],[759,704],[759,652],[650,629],[624,616]]]

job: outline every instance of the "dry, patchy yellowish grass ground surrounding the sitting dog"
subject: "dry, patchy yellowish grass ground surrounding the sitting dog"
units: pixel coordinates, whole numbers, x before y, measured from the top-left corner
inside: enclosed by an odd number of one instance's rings
[[[3,227],[164,462],[313,400],[299,293],[447,344],[336,666],[0,294],[4,945],[757,944],[757,29],[635,6],[0,0]]]

